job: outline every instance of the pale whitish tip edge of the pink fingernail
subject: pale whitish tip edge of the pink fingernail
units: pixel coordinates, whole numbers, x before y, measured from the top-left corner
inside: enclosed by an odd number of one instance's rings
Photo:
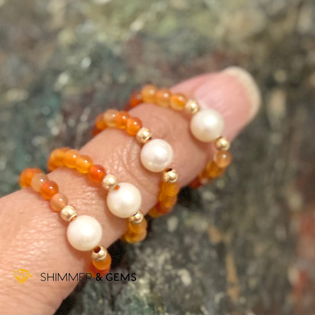
[[[222,73],[235,77],[243,85],[251,103],[249,119],[255,117],[261,105],[261,93],[254,77],[245,69],[237,66],[228,67]]]

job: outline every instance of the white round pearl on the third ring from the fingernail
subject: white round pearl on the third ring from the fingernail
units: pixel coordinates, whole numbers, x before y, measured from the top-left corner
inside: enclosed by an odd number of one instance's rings
[[[140,209],[140,191],[130,183],[119,183],[118,186],[107,194],[108,209],[120,218],[129,218]]]

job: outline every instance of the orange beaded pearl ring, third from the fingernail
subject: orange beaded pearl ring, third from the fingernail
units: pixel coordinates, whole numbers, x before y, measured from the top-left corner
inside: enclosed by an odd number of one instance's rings
[[[86,174],[95,183],[102,183],[108,191],[107,206],[112,214],[120,218],[129,218],[128,230],[124,239],[128,243],[140,242],[146,238],[147,222],[143,213],[139,211],[141,206],[141,194],[139,189],[130,183],[120,183],[112,174],[106,174],[106,169],[99,164],[93,164],[88,155],[80,155],[77,150],[69,148],[55,149],[49,159],[48,167],[54,170],[59,166],[77,169]]]

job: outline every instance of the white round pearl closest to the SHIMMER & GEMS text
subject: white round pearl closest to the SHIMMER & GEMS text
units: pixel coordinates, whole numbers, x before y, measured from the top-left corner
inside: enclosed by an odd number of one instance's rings
[[[102,227],[90,215],[79,215],[71,221],[67,228],[69,243],[78,250],[93,249],[102,238]]]

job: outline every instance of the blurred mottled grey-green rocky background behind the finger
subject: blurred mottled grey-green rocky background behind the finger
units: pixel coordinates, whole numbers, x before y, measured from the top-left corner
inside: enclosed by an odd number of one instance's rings
[[[112,246],[137,281],[78,286],[56,314],[314,313],[314,16],[312,0],[0,0],[1,195],[144,83],[239,65],[263,95],[227,174]]]

